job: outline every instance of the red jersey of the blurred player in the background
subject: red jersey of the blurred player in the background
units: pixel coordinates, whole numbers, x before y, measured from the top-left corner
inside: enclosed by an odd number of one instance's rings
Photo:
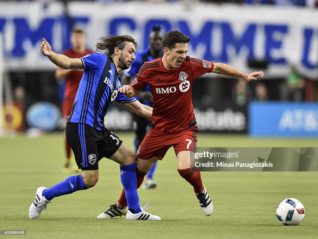
[[[63,52],[64,55],[70,58],[79,58],[91,53],[94,52],[91,50],[85,50],[84,53],[76,53],[73,51],[73,49],[69,49]],[[77,89],[79,88],[79,82],[82,79],[83,73],[84,70],[72,70],[65,77],[64,99],[74,101]]]

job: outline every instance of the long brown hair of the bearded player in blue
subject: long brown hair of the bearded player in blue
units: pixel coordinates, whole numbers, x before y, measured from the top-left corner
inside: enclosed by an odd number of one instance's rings
[[[132,42],[135,47],[137,43],[135,39],[128,35],[116,36],[110,35],[102,36],[98,39],[96,47],[96,52],[104,53],[108,57],[114,57],[115,47],[118,47],[120,50],[124,49],[127,42]]]

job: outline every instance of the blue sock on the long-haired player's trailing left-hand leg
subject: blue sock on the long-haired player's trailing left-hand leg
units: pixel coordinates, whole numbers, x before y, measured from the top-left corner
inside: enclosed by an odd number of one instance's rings
[[[44,196],[46,200],[51,201],[55,197],[71,194],[73,192],[86,189],[87,187],[83,181],[82,175],[80,174],[68,177],[57,185],[45,189],[42,192],[42,196]]]

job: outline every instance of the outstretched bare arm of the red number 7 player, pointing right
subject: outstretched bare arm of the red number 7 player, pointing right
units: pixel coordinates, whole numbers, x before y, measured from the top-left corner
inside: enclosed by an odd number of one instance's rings
[[[247,81],[254,81],[257,80],[256,76],[259,76],[259,79],[263,79],[264,73],[263,71],[255,71],[250,74],[240,71],[232,66],[223,64],[223,63],[214,63],[214,68],[212,70],[213,73],[225,75],[225,76],[232,76],[232,77],[239,77],[243,78]]]

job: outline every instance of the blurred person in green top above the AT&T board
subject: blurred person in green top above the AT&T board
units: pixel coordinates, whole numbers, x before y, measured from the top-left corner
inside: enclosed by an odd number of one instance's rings
[[[301,78],[294,66],[291,66],[290,73],[285,78],[282,99],[300,101],[303,99],[305,80]]]

